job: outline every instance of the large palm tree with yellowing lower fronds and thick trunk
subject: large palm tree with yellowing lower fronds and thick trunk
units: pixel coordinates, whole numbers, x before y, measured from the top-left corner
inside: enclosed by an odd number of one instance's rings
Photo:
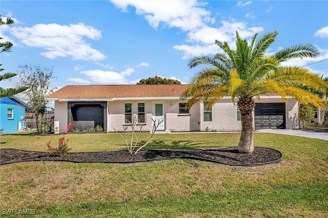
[[[321,99],[316,95],[299,88],[300,84],[315,89],[326,87],[327,84],[317,74],[305,68],[281,66],[282,62],[292,58],[317,57],[317,48],[306,44],[265,55],[277,35],[277,31],[270,32],[256,41],[255,34],[249,45],[236,31],[236,50],[230,49],[228,42],[216,40],[216,45],[225,54],[196,56],[188,63],[191,69],[200,64],[209,66],[193,77],[184,92],[183,98],[188,99],[189,108],[198,101],[212,107],[224,96],[231,96],[234,103],[238,99],[242,127],[238,150],[241,153],[252,153],[254,150],[253,97],[277,93],[283,100],[286,96],[293,96],[304,104],[310,102],[317,107],[322,106]]]

